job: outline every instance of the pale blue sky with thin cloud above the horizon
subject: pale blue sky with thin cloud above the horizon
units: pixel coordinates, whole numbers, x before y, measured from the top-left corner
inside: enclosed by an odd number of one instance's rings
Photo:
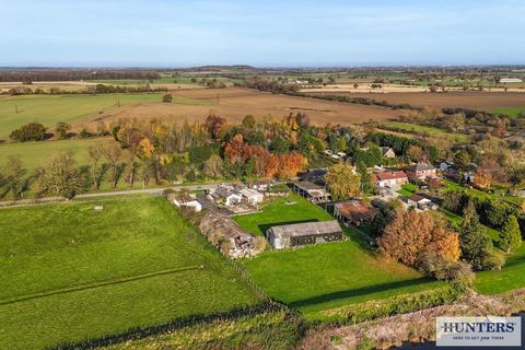
[[[0,67],[525,63],[525,1],[0,0]]]

